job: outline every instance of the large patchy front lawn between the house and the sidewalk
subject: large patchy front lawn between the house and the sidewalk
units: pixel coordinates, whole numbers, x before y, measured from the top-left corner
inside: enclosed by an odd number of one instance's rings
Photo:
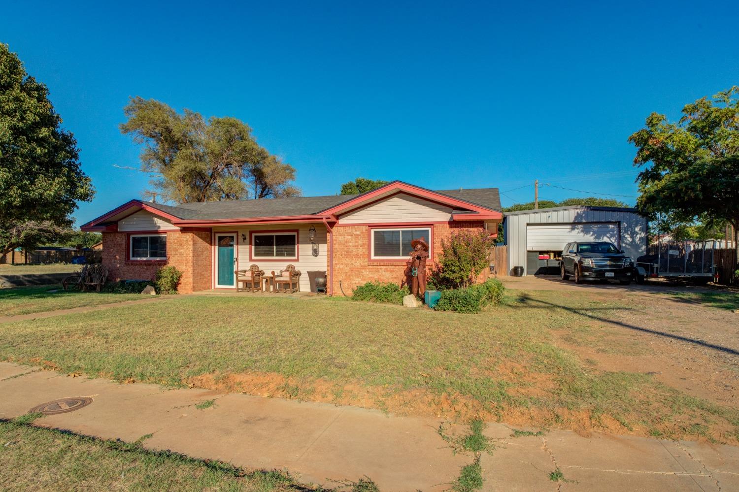
[[[554,343],[553,330],[633,305],[586,291],[515,294],[479,315],[330,298],[170,298],[3,324],[0,360],[458,419],[676,437],[723,426],[718,439],[735,440],[738,409],[650,374],[590,369]]]

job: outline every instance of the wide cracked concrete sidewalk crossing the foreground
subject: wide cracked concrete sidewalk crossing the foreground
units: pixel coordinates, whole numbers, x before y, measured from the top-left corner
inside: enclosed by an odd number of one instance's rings
[[[437,434],[440,420],[392,417],[366,409],[201,389],[120,385],[0,363],[0,418],[62,397],[93,402],[38,425],[132,442],[146,448],[219,459],[244,468],[287,469],[302,482],[369,476],[381,491],[443,491],[471,457],[453,454]],[[197,409],[203,400],[215,406]],[[486,491],[739,491],[739,448],[641,437],[548,431],[500,439],[483,455]],[[559,468],[568,481],[554,482]]]

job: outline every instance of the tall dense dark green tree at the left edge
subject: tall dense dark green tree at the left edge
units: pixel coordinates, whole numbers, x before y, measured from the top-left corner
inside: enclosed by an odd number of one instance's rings
[[[54,242],[95,194],[48,95],[0,43],[0,256]]]

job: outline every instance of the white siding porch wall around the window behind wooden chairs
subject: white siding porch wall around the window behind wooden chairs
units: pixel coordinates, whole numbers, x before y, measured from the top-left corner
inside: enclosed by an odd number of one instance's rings
[[[313,248],[310,244],[310,238],[308,236],[308,229],[313,225],[316,228],[316,245],[318,245],[318,256],[313,256]],[[267,275],[274,270],[275,273],[279,273],[279,270],[284,270],[288,264],[294,264],[297,270],[301,271],[300,275],[300,290],[303,292],[310,292],[310,281],[308,280],[308,271],[322,271],[328,270],[328,256],[327,256],[327,233],[326,226],[322,223],[316,224],[301,224],[301,225],[255,225],[253,227],[237,226],[236,228],[222,228],[223,230],[233,231],[236,230],[238,236],[238,270],[248,270],[252,264],[259,265],[259,268],[264,270]],[[249,245],[249,233],[253,232],[268,232],[269,230],[298,230],[298,260],[264,260],[255,259],[251,261]],[[217,229],[214,229],[214,233],[218,233]],[[246,237],[246,241],[242,239],[241,235]]]

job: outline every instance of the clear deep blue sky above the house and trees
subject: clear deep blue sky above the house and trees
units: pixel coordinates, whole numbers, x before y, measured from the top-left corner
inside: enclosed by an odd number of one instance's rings
[[[537,178],[636,195],[644,118],[739,84],[733,1],[273,3],[4,2],[0,41],[49,86],[97,189],[78,224],[146,187],[112,167],[138,165],[118,130],[134,95],[244,120],[304,195],[362,176],[510,205]]]

